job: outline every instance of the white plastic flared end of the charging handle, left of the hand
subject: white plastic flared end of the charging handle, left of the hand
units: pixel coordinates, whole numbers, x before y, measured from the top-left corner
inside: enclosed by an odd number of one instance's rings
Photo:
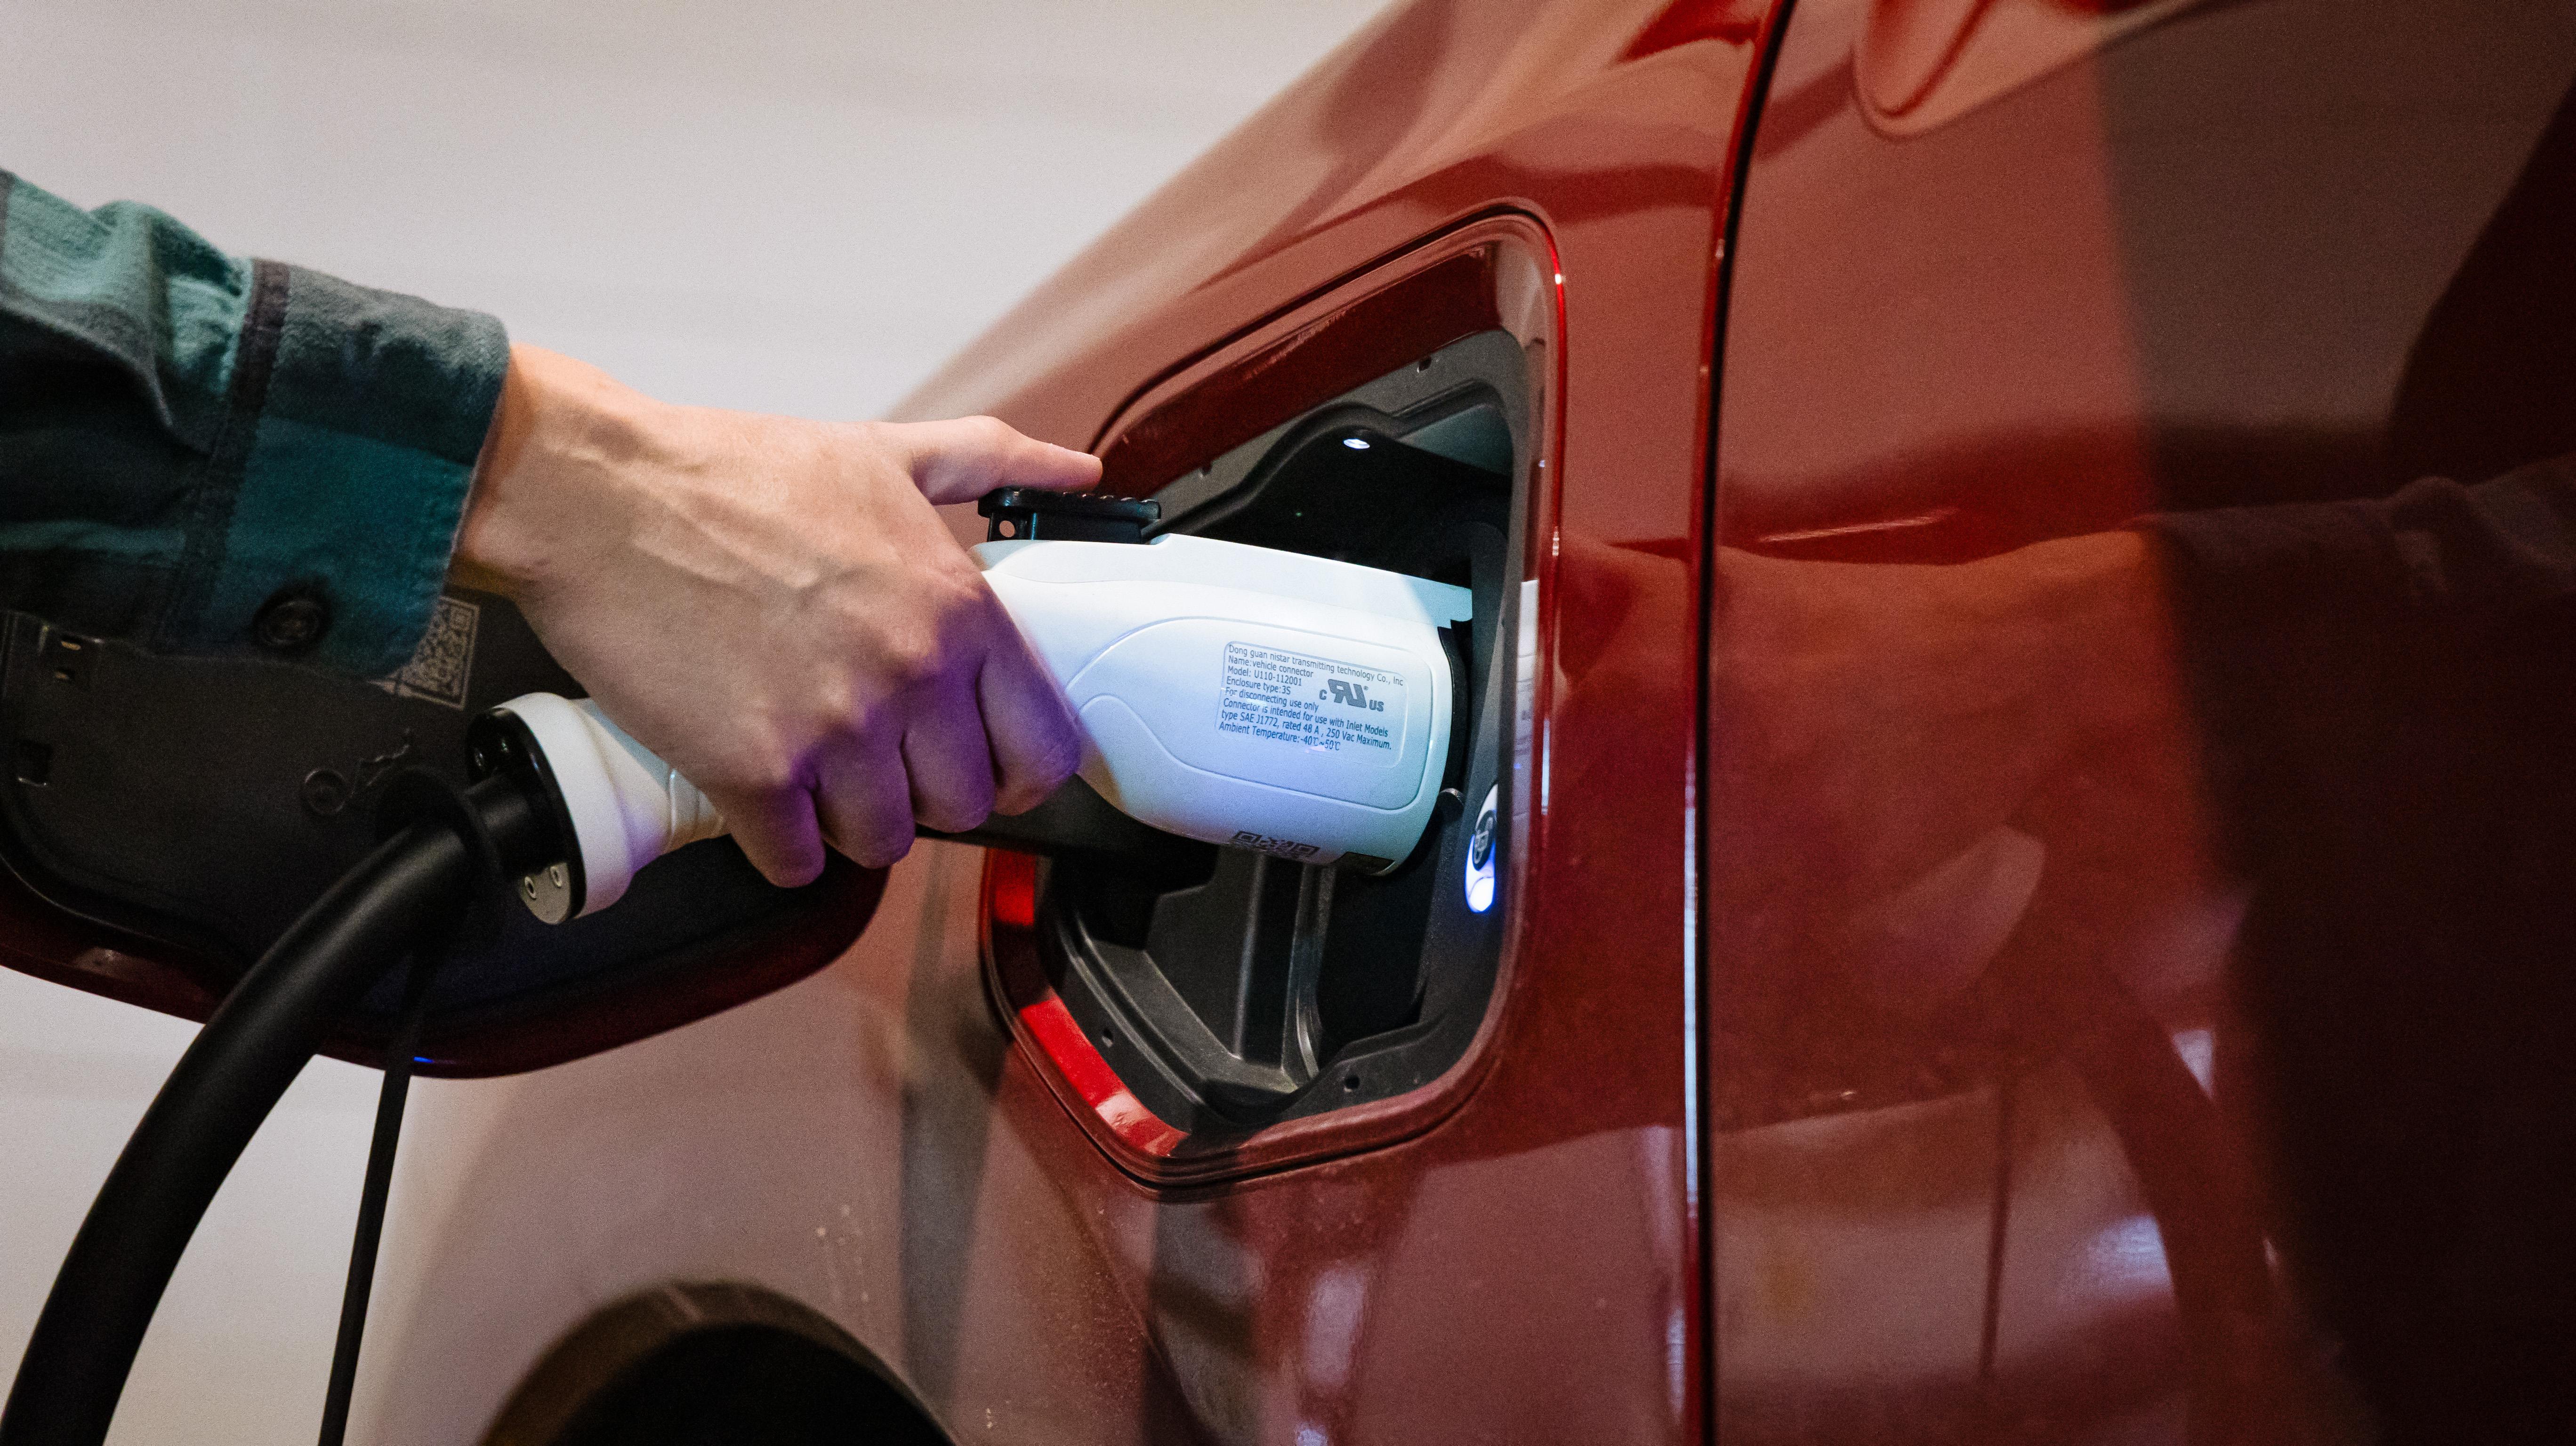
[[[608,722],[590,699],[567,701],[554,693],[526,693],[500,709],[528,724],[554,786],[564,796],[572,817],[572,835],[580,845],[580,879],[572,884],[572,907],[562,915],[580,918],[618,902],[636,871],[654,858],[716,838],[724,833],[724,815],[706,802],[696,784],[677,768],[654,758],[626,729]],[[556,882],[554,887],[567,887]],[[538,907],[544,879],[528,879],[531,907]],[[546,910],[538,907],[544,918]]]

